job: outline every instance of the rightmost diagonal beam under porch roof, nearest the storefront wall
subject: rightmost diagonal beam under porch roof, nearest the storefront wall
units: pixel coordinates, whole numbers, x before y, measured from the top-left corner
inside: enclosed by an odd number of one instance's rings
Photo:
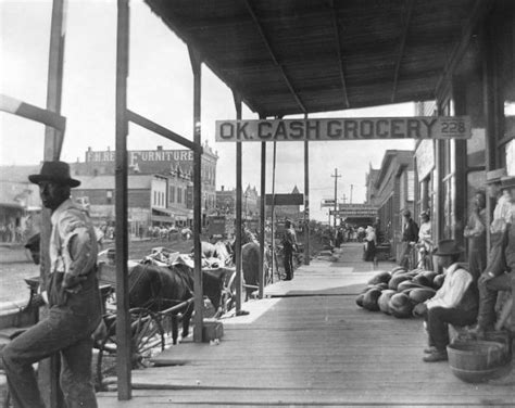
[[[462,61],[463,55],[467,50],[468,43],[470,42],[472,35],[474,34],[475,29],[477,29],[482,24],[488,13],[491,11],[493,4],[494,0],[476,0],[474,3],[474,7],[468,13],[468,21],[462,29],[462,36],[455,43],[450,58],[445,63],[445,67],[443,68],[443,72],[437,81],[437,86],[435,87],[435,94],[437,99],[442,100],[445,91],[449,90],[452,74],[454,73],[457,64]]]

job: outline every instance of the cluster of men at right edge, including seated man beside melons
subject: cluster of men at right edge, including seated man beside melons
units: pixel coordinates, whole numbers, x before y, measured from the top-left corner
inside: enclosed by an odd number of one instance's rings
[[[414,315],[423,316],[428,332],[429,347],[426,362],[448,359],[450,342],[448,326],[472,327],[467,333],[477,339],[503,327],[505,315],[497,319],[495,303],[499,291],[512,291],[515,273],[515,176],[504,169],[488,171],[487,187],[497,199],[490,228],[490,248],[487,256],[486,194],[476,192],[473,211],[464,237],[468,240],[468,264],[459,263],[463,253],[454,240],[443,240],[434,252],[438,267],[443,268],[444,282],[429,301],[417,305]],[[513,295],[513,294],[512,294]],[[513,298],[507,302],[510,313]],[[506,315],[507,315],[506,313]]]

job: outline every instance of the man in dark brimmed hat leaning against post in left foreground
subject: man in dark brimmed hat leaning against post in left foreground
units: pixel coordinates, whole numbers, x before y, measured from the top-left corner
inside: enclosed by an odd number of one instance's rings
[[[2,353],[14,407],[45,407],[33,364],[61,355],[61,387],[66,406],[97,407],[91,383],[91,334],[101,322],[96,276],[97,240],[88,216],[70,199],[80,184],[63,162],[43,162],[28,179],[39,184],[45,207],[52,213],[49,310],[45,320],[14,339]],[[43,297],[45,292],[42,292]]]

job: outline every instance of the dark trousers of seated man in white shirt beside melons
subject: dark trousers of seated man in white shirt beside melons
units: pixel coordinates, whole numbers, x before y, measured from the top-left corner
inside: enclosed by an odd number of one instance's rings
[[[444,350],[449,344],[449,327],[469,326],[476,321],[477,310],[461,310],[456,308],[432,307],[427,310],[427,331],[429,345]]]

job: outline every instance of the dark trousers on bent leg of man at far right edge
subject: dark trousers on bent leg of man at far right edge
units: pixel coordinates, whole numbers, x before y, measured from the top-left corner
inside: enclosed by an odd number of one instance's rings
[[[512,273],[502,273],[487,281],[479,280],[478,326],[482,330],[490,329],[495,322],[495,302],[499,291],[512,291]]]

